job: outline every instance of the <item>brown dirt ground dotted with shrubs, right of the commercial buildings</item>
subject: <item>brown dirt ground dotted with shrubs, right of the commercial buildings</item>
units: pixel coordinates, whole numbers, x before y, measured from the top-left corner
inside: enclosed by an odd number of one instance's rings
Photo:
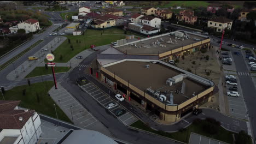
[[[198,51],[184,56],[184,59],[179,59],[177,67],[191,71],[191,73],[205,77],[208,80],[212,80],[214,85],[218,86],[220,65],[216,56],[217,49],[218,47],[213,46],[213,48],[209,49],[206,53]],[[209,57],[208,60],[207,55]],[[209,103],[203,104],[202,107],[210,107],[219,110],[219,94],[214,94],[212,100]]]

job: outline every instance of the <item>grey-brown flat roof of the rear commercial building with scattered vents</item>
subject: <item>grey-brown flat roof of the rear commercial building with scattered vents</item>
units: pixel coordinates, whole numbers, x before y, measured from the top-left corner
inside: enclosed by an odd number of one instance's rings
[[[184,31],[179,31],[179,32],[184,32]],[[175,32],[171,32],[171,33],[175,33]],[[170,35],[171,33],[168,33],[167,35],[163,35],[161,37],[155,36],[152,38],[148,38],[147,40],[144,40],[144,41],[137,40],[133,42],[133,44],[136,44],[138,48],[131,46],[130,44],[117,46],[115,48],[124,53],[126,53],[127,51],[127,53],[158,55],[158,53],[164,53],[167,51],[178,49],[179,47],[182,47],[182,46],[190,45],[190,44],[197,43],[199,41],[207,39],[207,37],[203,35],[200,36],[199,34],[186,32],[189,35],[190,39],[184,38],[184,40],[182,41],[182,38],[178,39],[177,37],[177,39],[175,39],[176,36]],[[167,43],[167,41],[170,41],[170,38],[173,44]],[[197,40],[194,40],[194,38]],[[152,45],[152,43],[156,42],[156,40],[159,41],[159,44]],[[175,40],[177,41],[177,43],[175,43]],[[165,47],[161,47],[160,44],[165,45]]]

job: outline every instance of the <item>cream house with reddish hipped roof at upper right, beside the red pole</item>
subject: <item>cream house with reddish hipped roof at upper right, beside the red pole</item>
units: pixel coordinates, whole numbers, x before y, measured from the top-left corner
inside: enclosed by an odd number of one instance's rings
[[[207,26],[214,28],[216,32],[222,32],[223,29],[231,29],[233,20],[226,17],[216,17],[208,21]]]

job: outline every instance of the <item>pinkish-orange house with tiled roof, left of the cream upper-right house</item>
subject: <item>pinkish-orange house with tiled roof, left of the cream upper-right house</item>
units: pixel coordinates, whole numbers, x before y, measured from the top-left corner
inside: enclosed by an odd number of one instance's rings
[[[194,25],[194,23],[197,20],[197,16],[194,16],[194,11],[193,10],[179,11],[179,14],[176,15],[176,18],[179,21],[184,21],[184,22],[190,23],[192,25]]]

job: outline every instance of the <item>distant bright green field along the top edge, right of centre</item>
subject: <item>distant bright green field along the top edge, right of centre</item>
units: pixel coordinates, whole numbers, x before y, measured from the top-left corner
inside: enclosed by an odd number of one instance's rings
[[[168,7],[207,7],[210,3],[204,1],[170,1],[165,5],[158,5],[159,8],[168,8]],[[182,6],[183,5],[183,6]]]

